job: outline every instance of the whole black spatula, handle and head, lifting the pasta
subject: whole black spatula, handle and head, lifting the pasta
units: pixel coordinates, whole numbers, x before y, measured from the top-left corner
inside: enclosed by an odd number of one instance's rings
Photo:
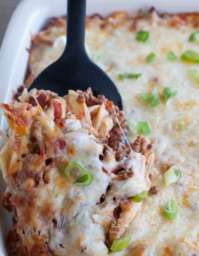
[[[103,94],[122,109],[121,96],[115,84],[85,51],[85,13],[86,0],[68,0],[64,52],[37,76],[28,90],[44,89],[64,96],[69,89],[85,91],[90,86],[95,96]]]

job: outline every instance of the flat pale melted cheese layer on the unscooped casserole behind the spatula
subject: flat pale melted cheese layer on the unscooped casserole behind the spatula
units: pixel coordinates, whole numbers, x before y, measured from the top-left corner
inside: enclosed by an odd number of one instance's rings
[[[113,24],[117,24],[117,19],[111,19]],[[86,28],[90,57],[107,71],[119,88],[126,118],[147,121],[151,131],[149,138],[157,139],[155,167],[159,174],[152,185],[158,185],[160,191],[143,201],[141,210],[128,227],[125,235],[131,235],[129,249],[113,255],[132,255],[133,248],[137,246],[144,246],[143,255],[167,255],[167,247],[172,255],[191,256],[199,252],[199,86],[187,72],[198,68],[198,64],[180,59],[188,49],[199,52],[199,45],[188,41],[195,31],[190,24],[172,27],[169,19],[159,18],[155,12],[151,19],[140,19],[137,29],[150,31],[149,40],[145,43],[135,39],[132,19],[126,18],[122,25],[107,25],[101,29],[104,21],[94,18]],[[58,58],[63,49],[64,44],[60,44],[59,51],[46,46],[42,51],[44,57],[30,65],[32,73],[37,75]],[[40,52],[39,47],[33,49],[32,56],[37,51]],[[178,59],[170,61],[167,58],[169,51],[173,51]],[[154,62],[146,63],[146,56],[151,52],[157,57]],[[137,80],[124,78],[120,81],[118,74],[124,72],[142,73],[142,76]],[[154,86],[159,95],[164,87],[172,87],[178,94],[167,103],[162,101],[150,109],[140,102],[138,93],[151,92]],[[185,122],[185,128],[176,130],[176,123],[180,120]],[[129,139],[134,139],[134,136],[129,135]],[[166,187],[161,166],[173,164],[181,168],[182,177]],[[178,204],[175,220],[168,220],[163,213],[164,204],[171,198]]]

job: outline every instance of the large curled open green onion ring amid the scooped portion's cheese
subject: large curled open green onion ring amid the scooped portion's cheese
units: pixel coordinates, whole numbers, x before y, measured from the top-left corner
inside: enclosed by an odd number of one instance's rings
[[[83,168],[80,164],[78,164],[76,161],[71,161],[71,163],[66,167],[66,176],[70,176],[70,172],[74,168],[78,168],[83,174],[85,174],[84,176],[76,180],[76,186],[88,186],[92,183],[92,174],[88,170]]]

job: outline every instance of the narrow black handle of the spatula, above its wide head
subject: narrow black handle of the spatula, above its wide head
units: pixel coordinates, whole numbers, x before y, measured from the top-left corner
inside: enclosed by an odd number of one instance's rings
[[[67,41],[65,51],[70,55],[85,52],[86,0],[68,0],[67,2]]]

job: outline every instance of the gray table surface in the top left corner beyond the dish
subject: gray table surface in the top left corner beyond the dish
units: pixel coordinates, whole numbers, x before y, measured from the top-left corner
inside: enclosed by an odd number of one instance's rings
[[[8,21],[21,0],[0,0],[0,45],[4,37]]]

